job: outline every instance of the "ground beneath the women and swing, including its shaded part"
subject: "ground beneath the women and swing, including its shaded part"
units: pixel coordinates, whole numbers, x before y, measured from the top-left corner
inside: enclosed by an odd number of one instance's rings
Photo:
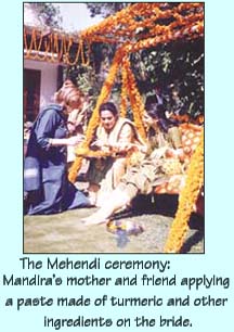
[[[24,253],[162,253],[177,209],[177,197],[160,195],[157,204],[139,197],[129,213],[116,216],[144,226],[139,235],[116,235],[105,225],[84,226],[80,219],[94,208],[52,216],[25,216]],[[143,213],[144,212],[144,213]],[[193,216],[182,253],[204,253],[204,220]]]

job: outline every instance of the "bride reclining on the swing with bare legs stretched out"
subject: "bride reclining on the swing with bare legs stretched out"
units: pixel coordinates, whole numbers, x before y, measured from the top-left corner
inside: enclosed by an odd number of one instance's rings
[[[183,152],[179,129],[164,117],[162,105],[151,105],[144,116],[148,132],[148,150],[136,157],[102,207],[83,219],[87,225],[107,222],[112,215],[129,205],[138,194],[150,194],[155,186],[170,176],[166,161],[176,162],[177,174],[183,173]]]

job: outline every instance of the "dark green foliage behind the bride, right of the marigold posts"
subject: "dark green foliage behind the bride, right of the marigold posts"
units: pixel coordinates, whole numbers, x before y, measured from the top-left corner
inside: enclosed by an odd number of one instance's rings
[[[204,113],[204,41],[180,40],[131,55],[142,93],[159,88],[170,111]]]

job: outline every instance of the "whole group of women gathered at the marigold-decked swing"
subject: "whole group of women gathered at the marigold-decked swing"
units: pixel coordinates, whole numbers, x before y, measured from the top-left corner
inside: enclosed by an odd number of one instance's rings
[[[87,225],[106,222],[134,196],[151,193],[167,179],[165,158],[177,158],[179,171],[183,171],[180,131],[167,118],[162,103],[145,105],[145,141],[134,124],[121,118],[113,102],[106,102],[100,106],[100,125],[90,144],[90,150],[103,151],[106,155],[89,159],[88,190],[78,190],[68,181],[67,151],[84,139],[83,103],[84,95],[73,81],[66,80],[55,93],[54,103],[36,118],[25,156],[26,214],[49,215],[99,206],[83,221]]]

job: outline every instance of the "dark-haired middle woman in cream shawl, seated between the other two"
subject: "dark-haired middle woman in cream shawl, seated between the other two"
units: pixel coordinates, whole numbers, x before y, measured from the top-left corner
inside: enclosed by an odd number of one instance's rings
[[[133,146],[143,145],[133,123],[119,117],[114,103],[102,104],[99,113],[101,124],[91,149],[109,152],[109,156],[90,162],[87,180],[88,191],[94,205],[102,204],[102,200],[105,200],[108,192],[119,183],[126,173],[128,152]]]

